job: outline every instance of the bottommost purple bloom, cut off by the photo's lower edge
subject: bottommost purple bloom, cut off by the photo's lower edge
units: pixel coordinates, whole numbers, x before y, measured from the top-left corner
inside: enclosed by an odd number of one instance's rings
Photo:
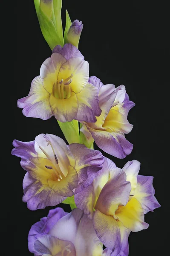
[[[52,209],[35,223],[28,236],[29,251],[35,256],[109,256],[83,211]]]

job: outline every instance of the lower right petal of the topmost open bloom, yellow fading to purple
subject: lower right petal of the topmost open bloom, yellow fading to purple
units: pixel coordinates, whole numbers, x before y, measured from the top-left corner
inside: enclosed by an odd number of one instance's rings
[[[78,113],[75,119],[84,122],[96,122],[95,116],[101,114],[98,105],[98,88],[87,83],[84,89],[76,95],[78,98]]]

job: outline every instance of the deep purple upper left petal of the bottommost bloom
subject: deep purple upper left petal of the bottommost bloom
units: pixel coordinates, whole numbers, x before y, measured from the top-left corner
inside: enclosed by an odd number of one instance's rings
[[[64,212],[62,208],[58,207],[55,209],[51,209],[49,210],[49,214],[47,217],[41,218],[40,221],[32,225],[31,229],[29,230],[28,236],[28,247],[31,253],[35,253],[35,240],[43,235],[48,234],[52,227],[58,222],[58,220],[66,214],[67,212]]]

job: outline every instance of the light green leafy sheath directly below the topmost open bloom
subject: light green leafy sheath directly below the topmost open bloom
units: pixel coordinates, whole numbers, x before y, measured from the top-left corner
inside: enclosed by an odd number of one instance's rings
[[[72,122],[58,121],[58,124],[69,144],[80,143],[79,127],[77,120],[72,120]]]

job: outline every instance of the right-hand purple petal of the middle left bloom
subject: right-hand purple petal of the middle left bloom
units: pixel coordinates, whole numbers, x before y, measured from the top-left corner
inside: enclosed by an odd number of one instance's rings
[[[68,148],[75,157],[75,169],[78,173],[78,186],[75,194],[89,186],[97,172],[102,168],[104,157],[100,151],[86,148],[81,144],[71,144]]]

